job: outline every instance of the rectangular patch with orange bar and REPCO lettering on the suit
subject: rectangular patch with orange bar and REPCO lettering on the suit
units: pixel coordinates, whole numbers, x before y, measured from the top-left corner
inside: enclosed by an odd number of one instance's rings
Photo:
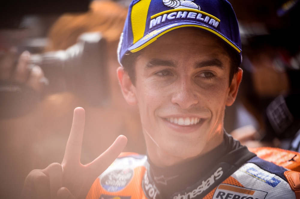
[[[264,199],[268,192],[244,187],[220,184],[214,192],[213,199]]]

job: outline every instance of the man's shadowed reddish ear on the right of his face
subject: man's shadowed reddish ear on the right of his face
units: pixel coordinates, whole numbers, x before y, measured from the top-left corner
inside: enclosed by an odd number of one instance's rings
[[[243,76],[243,70],[238,68],[238,73],[232,78],[231,85],[229,86],[229,93],[226,100],[226,106],[231,106],[235,101],[236,95],[238,94],[238,87],[240,86]]]

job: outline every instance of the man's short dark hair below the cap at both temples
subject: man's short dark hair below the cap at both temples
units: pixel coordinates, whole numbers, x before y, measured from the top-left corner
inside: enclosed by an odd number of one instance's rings
[[[230,72],[229,72],[229,86],[231,85],[233,76],[238,73],[238,60],[239,55],[233,50],[229,45],[224,42],[220,42],[221,47],[224,49],[226,55],[230,58]],[[137,51],[136,53],[130,53],[128,55],[124,55],[121,63],[124,67],[124,70],[130,77],[130,80],[133,85],[135,85],[136,81],[136,73],[135,73],[135,61],[137,57],[141,54],[143,50]]]

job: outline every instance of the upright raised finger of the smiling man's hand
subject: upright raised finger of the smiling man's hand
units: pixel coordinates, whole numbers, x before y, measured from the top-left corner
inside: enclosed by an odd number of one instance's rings
[[[63,163],[78,162],[80,163],[80,154],[82,146],[82,137],[85,123],[85,111],[81,107],[74,110],[73,124],[70,136],[67,142],[66,151],[64,153]]]

